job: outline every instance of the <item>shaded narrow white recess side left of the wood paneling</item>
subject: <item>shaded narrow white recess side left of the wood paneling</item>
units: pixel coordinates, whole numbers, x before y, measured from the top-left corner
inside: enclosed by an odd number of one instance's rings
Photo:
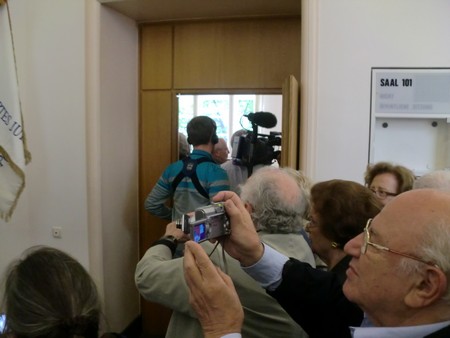
[[[101,209],[106,315],[115,331],[139,314],[138,29],[101,7]]]

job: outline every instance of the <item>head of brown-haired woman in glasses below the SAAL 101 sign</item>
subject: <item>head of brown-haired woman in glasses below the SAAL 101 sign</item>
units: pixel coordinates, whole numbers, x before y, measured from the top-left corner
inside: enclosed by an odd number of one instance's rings
[[[364,182],[378,199],[386,205],[395,196],[411,190],[414,173],[401,165],[389,162],[369,164],[364,174]]]

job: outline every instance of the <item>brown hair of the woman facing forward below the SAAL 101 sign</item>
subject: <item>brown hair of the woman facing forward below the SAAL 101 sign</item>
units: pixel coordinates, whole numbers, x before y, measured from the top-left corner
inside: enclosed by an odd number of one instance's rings
[[[375,164],[369,164],[366,168],[366,172],[364,174],[364,182],[366,186],[370,187],[375,176],[380,174],[390,173],[395,176],[398,182],[398,191],[397,194],[401,194],[402,192],[411,190],[414,184],[414,173],[402,166],[395,165],[390,162],[378,162]]]

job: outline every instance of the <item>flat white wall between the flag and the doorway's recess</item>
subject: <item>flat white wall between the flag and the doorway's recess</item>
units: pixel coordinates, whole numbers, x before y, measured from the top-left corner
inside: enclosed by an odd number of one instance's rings
[[[0,223],[0,270],[35,244],[64,249],[88,266],[84,2],[9,6],[32,161],[11,221]],[[52,226],[62,227],[61,239]]]

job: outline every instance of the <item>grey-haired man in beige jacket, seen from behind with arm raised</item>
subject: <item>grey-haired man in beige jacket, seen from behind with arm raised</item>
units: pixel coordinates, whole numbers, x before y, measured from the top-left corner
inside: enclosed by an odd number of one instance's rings
[[[252,224],[254,229],[258,227],[264,232],[265,226],[274,226],[278,223],[283,226],[291,225],[290,229],[283,229],[285,231],[283,234],[264,234],[262,237],[264,241],[268,245],[276,246],[284,254],[307,261],[314,266],[314,257],[308,244],[298,235],[301,216],[307,203],[304,191],[299,188],[296,181],[283,169],[267,167],[247,180],[243,186],[243,193],[251,196],[251,202],[247,202],[246,207],[255,219],[255,223]],[[270,210],[261,208],[267,205],[270,205]],[[208,208],[200,209],[208,210]],[[208,218],[208,214],[205,214],[205,217]],[[212,213],[211,217],[217,220]],[[215,220],[210,222],[212,226],[220,226]],[[197,224],[195,221],[196,219],[192,219],[191,224]],[[209,220],[204,223],[208,224]],[[165,235],[147,250],[136,268],[135,281],[141,295],[149,301],[173,310],[166,337],[203,336],[202,327],[189,304],[189,292],[183,278],[184,258],[173,259],[177,241],[185,241],[187,238],[189,236],[178,229],[175,223],[168,224]],[[306,337],[301,327],[289,317],[276,300],[241,269],[237,260],[223,252],[220,246],[214,250],[214,245],[207,240],[203,241],[201,246],[210,255],[208,260],[211,259],[214,264],[226,270],[234,282],[245,312],[242,327],[244,336]]]

